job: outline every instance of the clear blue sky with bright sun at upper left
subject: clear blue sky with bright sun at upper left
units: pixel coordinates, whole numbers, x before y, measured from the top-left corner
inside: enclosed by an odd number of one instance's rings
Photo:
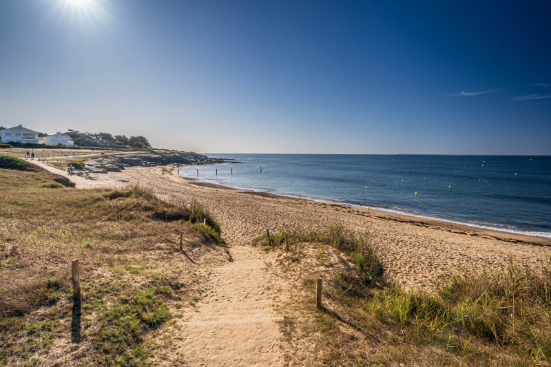
[[[1,0],[0,125],[211,153],[551,154],[548,1]]]

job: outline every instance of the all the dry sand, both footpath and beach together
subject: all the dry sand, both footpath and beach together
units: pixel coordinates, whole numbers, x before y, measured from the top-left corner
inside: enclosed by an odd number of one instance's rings
[[[59,170],[51,169],[58,172]],[[539,268],[551,256],[550,240],[464,225],[353,209],[342,205],[258,195],[184,180],[168,167],[132,167],[121,173],[76,179],[77,187],[123,187],[137,182],[165,200],[196,199],[220,224],[234,262],[204,272],[205,296],[178,320],[182,342],[171,364],[280,365],[283,357],[273,302],[284,284],[267,271],[251,240],[271,231],[319,229],[342,222],[367,233],[389,273],[408,289],[429,290],[439,275],[466,269],[503,269],[509,258]],[[183,362],[185,361],[185,362]]]

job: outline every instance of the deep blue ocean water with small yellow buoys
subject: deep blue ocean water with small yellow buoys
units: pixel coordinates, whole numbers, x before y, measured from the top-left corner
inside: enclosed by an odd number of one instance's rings
[[[180,176],[551,238],[551,156],[207,155],[241,163]]]

